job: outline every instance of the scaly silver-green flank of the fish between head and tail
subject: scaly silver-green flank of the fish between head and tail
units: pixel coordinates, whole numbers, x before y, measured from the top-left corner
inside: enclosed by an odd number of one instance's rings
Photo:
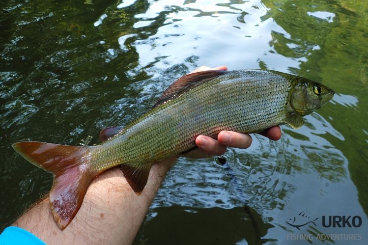
[[[258,70],[233,71],[200,84],[93,149],[95,170],[163,160],[195,147],[198,135],[215,138],[222,130],[254,133],[278,125],[289,90],[287,78]]]

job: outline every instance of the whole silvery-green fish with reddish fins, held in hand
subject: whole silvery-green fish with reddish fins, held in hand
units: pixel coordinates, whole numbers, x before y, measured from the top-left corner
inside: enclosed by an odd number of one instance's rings
[[[93,178],[121,165],[128,183],[141,192],[152,164],[194,148],[199,135],[223,130],[255,133],[320,108],[334,92],[297,76],[264,70],[204,71],[186,75],[154,107],[97,146],[64,146],[30,141],[13,144],[30,163],[54,174],[50,203],[63,229],[80,208]],[[119,128],[120,129],[120,128]]]

